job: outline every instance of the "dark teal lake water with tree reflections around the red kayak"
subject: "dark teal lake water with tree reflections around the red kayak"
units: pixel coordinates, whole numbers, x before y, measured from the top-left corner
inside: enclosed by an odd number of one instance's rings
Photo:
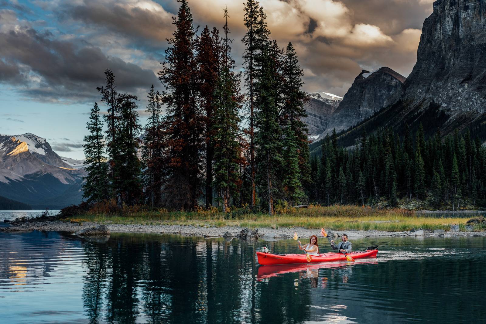
[[[353,240],[355,250],[369,245],[379,246],[377,258],[270,268],[256,250],[298,253],[294,240],[0,233],[0,322],[486,320],[486,238]]]

